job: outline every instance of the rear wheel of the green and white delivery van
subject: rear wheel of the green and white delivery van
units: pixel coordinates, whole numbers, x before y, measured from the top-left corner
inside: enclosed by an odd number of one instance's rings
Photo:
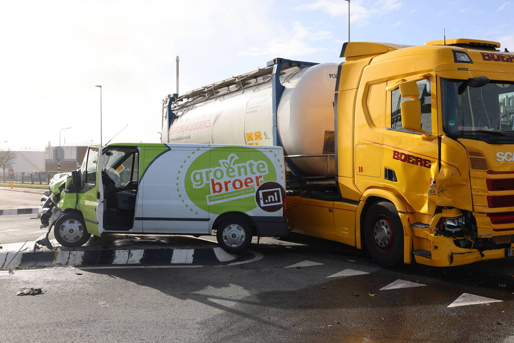
[[[216,231],[219,245],[229,253],[246,250],[252,242],[252,236],[250,225],[240,218],[224,220]]]

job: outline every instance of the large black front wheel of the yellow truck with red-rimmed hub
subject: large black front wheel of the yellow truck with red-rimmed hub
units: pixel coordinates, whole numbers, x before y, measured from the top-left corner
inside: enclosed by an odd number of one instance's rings
[[[370,206],[364,220],[364,241],[373,260],[393,266],[403,256],[403,225],[396,207],[389,201]]]

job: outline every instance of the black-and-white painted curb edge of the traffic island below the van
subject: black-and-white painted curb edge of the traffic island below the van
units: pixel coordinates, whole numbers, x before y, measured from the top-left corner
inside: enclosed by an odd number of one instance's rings
[[[36,253],[0,253],[0,269],[106,264],[225,263],[237,259],[221,247],[203,249],[107,249]]]

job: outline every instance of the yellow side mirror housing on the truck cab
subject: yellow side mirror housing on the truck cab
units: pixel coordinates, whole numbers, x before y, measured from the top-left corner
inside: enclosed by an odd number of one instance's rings
[[[421,129],[421,101],[416,80],[400,83],[400,95],[410,98],[401,102],[401,125],[404,129],[429,136],[430,132]]]

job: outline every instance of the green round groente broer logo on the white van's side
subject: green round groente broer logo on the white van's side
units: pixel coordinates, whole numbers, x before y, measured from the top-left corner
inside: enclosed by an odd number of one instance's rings
[[[204,211],[248,212],[257,206],[255,192],[277,172],[262,151],[244,146],[212,148],[199,155],[185,175],[186,193]]]

